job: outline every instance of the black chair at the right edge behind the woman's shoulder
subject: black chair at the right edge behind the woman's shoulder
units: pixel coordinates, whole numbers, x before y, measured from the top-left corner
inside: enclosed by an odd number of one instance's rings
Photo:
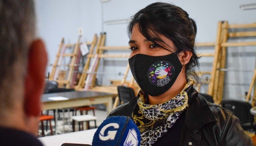
[[[231,111],[239,120],[244,130],[255,130],[254,116],[250,113],[252,105],[245,101],[226,99],[220,105]]]

